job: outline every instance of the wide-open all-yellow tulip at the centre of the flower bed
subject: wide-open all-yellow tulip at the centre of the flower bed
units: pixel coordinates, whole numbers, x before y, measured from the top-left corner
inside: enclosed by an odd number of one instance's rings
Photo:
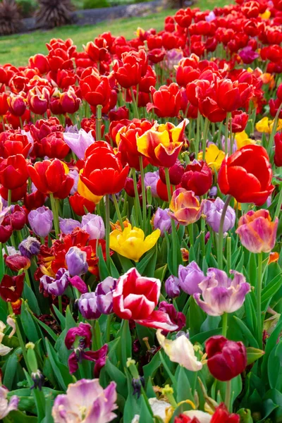
[[[156,245],[161,231],[156,229],[145,238],[145,233],[130,223],[123,232],[117,229],[110,233],[110,248],[128,259],[139,262],[142,255]]]

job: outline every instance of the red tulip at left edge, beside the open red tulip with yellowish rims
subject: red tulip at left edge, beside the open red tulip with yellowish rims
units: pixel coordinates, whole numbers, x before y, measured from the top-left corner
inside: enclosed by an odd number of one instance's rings
[[[1,161],[0,183],[7,190],[20,188],[27,178],[27,164],[23,154],[15,154]]]

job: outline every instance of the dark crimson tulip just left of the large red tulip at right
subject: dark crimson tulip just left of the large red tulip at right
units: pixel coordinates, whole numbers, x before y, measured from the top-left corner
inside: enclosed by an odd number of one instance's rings
[[[212,186],[212,170],[203,160],[188,164],[181,178],[181,186],[195,195],[204,195]]]

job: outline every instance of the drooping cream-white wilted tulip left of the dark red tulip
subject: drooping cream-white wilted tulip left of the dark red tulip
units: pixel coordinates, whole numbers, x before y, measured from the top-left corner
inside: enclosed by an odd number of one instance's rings
[[[164,348],[164,352],[172,362],[176,362],[192,372],[202,369],[202,363],[197,360],[193,345],[185,335],[179,336],[172,341],[171,339],[166,339],[161,334],[161,330],[158,329],[157,339],[159,345]]]

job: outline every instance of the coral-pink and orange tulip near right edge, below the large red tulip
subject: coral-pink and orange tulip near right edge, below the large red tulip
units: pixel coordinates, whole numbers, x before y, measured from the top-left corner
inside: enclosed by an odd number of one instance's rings
[[[250,210],[240,217],[236,233],[250,252],[271,252],[276,243],[278,218],[271,221],[268,210]]]

